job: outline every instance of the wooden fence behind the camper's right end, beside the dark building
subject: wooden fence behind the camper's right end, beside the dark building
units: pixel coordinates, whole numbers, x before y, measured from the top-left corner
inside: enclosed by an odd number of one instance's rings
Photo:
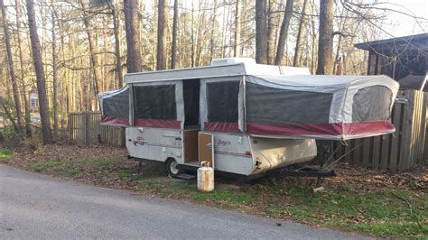
[[[416,162],[428,157],[427,107],[428,93],[400,91],[392,122],[395,134],[335,142],[336,158],[349,152],[344,159],[351,164],[383,171],[408,171]],[[352,151],[353,149],[353,151]]]

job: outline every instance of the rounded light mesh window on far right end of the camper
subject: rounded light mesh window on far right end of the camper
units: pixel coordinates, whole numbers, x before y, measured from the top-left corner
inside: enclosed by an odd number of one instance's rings
[[[386,121],[390,118],[393,93],[384,86],[361,88],[354,95],[352,122]]]

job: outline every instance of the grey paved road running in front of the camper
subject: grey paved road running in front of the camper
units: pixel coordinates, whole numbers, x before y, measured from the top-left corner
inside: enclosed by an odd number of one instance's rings
[[[358,238],[53,180],[0,164],[0,238]]]

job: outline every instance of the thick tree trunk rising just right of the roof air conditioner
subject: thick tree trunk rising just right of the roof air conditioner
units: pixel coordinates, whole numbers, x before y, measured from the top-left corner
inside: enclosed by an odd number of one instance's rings
[[[267,64],[266,0],[256,0],[256,62]]]

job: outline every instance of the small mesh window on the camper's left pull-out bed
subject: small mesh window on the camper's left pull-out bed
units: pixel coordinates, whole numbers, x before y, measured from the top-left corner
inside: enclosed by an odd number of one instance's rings
[[[103,115],[114,118],[129,118],[129,89],[103,100]]]

